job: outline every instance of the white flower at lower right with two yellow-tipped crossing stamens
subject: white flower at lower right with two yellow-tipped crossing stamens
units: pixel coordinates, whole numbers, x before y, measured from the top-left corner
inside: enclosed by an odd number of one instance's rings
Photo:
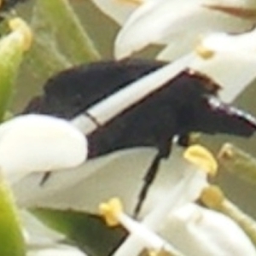
[[[217,163],[206,149],[192,146],[184,156],[200,169],[216,172]],[[147,247],[156,252],[164,249],[172,255],[255,256],[252,242],[230,218],[189,203],[195,201],[206,185],[206,173],[188,170],[142,224],[129,218],[117,200],[101,205],[109,225],[122,224],[131,234],[113,255],[138,255]]]

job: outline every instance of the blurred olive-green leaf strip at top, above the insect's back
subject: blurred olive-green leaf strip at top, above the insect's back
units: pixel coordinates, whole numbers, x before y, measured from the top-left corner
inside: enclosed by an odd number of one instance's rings
[[[33,23],[42,34],[55,38],[73,63],[96,61],[99,54],[67,0],[38,0]]]

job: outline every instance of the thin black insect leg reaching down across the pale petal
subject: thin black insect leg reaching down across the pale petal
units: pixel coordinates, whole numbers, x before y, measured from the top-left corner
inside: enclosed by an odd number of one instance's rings
[[[151,163],[151,166],[148,168],[148,172],[146,172],[146,175],[143,177],[143,188],[141,189],[139,195],[138,195],[138,201],[137,205],[133,212],[133,217],[137,218],[139,212],[141,211],[141,208],[143,207],[143,202],[145,201],[147,195],[148,195],[148,189],[150,185],[154,182],[154,178],[159,170],[160,166],[160,160],[162,160],[163,156],[162,154],[158,153],[154,157],[154,160]]]

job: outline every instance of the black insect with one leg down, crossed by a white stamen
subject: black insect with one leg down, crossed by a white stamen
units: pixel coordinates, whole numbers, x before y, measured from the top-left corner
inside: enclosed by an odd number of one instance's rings
[[[79,114],[89,117],[97,126],[95,131],[87,134],[90,158],[122,148],[157,148],[158,154],[144,177],[136,215],[154,181],[160,160],[171,153],[174,136],[186,146],[185,138],[191,131],[251,137],[256,129],[253,116],[218,99],[218,84],[189,71],[180,73],[159,90],[109,119],[105,125],[99,125],[101,120],[86,112],[127,84],[165,64],[160,61],[125,60],[73,67],[49,79],[44,86],[44,95],[32,100],[24,111],[71,120]]]

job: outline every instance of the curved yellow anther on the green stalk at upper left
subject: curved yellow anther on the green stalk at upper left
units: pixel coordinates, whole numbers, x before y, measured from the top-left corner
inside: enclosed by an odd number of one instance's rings
[[[9,27],[13,32],[20,32],[24,41],[24,50],[27,50],[31,47],[32,44],[32,30],[26,24],[26,22],[20,18],[14,18],[9,20]]]

